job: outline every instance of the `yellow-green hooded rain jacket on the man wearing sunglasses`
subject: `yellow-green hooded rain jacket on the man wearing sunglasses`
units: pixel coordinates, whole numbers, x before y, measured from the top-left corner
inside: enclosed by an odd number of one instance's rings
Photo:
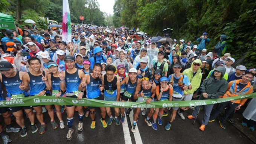
[[[183,74],[187,75],[192,86],[192,89],[189,89],[188,91],[184,91],[184,94],[193,94],[194,91],[196,91],[200,87],[200,83],[202,79],[202,73],[201,73],[202,70],[201,68],[198,68],[197,73],[195,74],[195,76],[193,76],[193,65],[195,62],[199,62],[200,65],[202,65],[201,60],[196,59],[195,61],[192,62],[190,68],[183,71]]]

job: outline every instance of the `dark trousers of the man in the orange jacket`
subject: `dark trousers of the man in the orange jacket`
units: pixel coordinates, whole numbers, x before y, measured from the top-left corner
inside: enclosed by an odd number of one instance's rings
[[[213,112],[213,114],[210,116],[210,120],[215,120],[218,115],[221,113],[221,111],[227,107],[227,109],[225,110],[225,113],[222,115],[221,118],[221,123],[226,123],[227,118],[229,117],[229,115],[235,111],[236,106],[238,106],[238,103],[233,103],[233,102],[224,102],[224,103],[220,103],[215,112]]]

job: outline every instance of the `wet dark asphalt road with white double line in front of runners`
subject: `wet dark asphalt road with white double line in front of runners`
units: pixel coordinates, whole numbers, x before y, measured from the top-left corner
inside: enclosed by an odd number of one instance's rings
[[[84,110],[85,111],[85,110]],[[113,109],[112,109],[113,112]],[[192,110],[188,110],[184,112],[184,116],[190,115]],[[127,124],[120,124],[117,126],[115,121],[113,120],[111,126],[107,128],[102,127],[100,118],[100,111],[96,109],[96,128],[90,129],[91,118],[84,117],[83,121],[83,131],[78,132],[78,112],[75,112],[74,115],[74,123],[73,129],[74,133],[72,135],[72,139],[70,141],[66,141],[66,134],[68,132],[67,127],[67,114],[66,111],[62,114],[62,118],[64,120],[65,128],[60,129],[52,129],[50,124],[50,118],[48,113],[44,113],[44,120],[47,124],[46,132],[44,134],[31,133],[30,122],[29,119],[25,118],[25,123],[27,126],[27,136],[22,138],[20,136],[21,132],[18,133],[8,133],[10,138],[12,139],[12,144],[192,144],[192,143],[205,143],[205,144],[252,144],[249,139],[247,139],[241,132],[239,132],[235,127],[233,127],[230,123],[226,123],[226,129],[222,129],[219,126],[218,121],[214,121],[213,123],[209,123],[204,132],[201,132],[198,127],[201,125],[201,120],[203,117],[203,111],[201,111],[198,115],[197,121],[195,125],[192,123],[194,120],[181,120],[181,118],[177,115],[176,120],[172,123],[171,129],[169,131],[165,130],[164,127],[169,121],[169,117],[171,115],[171,111],[168,111],[168,116],[163,117],[163,125],[158,127],[158,130],[152,129],[146,125],[144,118],[142,116],[142,111],[140,112],[139,121],[137,122],[137,126],[139,132],[136,133],[131,132],[131,121],[130,117],[126,116],[128,121],[128,128],[125,127]],[[3,117],[1,118],[1,124],[3,124]],[[59,120],[55,114],[55,120],[59,124]],[[106,116],[106,121],[108,120],[108,116]],[[120,120],[120,116],[119,116]],[[35,122],[38,127],[38,131],[40,128],[40,123],[36,120]],[[4,124],[3,124],[4,125]],[[14,126],[18,125],[14,121]],[[140,133],[140,135],[139,135]],[[129,138],[130,136],[130,138]],[[2,144],[3,141],[0,141]]]

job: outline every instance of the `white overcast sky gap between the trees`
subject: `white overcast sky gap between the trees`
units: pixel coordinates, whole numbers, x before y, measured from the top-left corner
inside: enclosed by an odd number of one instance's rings
[[[102,12],[107,12],[107,14],[113,15],[113,6],[115,3],[115,0],[98,0],[99,2],[99,9]]]

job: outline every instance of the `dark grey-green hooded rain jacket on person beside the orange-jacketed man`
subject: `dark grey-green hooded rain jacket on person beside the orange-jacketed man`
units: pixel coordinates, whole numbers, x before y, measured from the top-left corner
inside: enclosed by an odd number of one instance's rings
[[[229,84],[226,79],[223,78],[226,68],[224,67],[217,67],[216,71],[220,71],[222,73],[222,77],[219,80],[215,80],[214,73],[208,77],[207,79],[204,80],[202,85],[200,86],[201,88],[201,96],[200,100],[202,99],[218,99],[221,95],[223,95]],[[203,97],[203,93],[206,92],[208,94],[207,98]]]

